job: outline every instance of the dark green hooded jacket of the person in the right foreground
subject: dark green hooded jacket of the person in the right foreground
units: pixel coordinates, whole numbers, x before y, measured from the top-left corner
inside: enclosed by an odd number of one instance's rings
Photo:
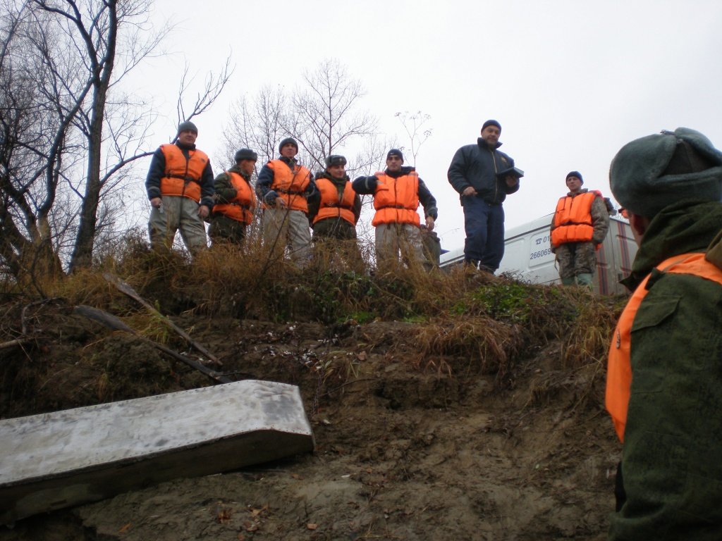
[[[722,268],[722,203],[680,202],[645,232],[625,285],[674,255]],[[632,324],[626,501],[609,540],[722,539],[722,286],[653,271]]]

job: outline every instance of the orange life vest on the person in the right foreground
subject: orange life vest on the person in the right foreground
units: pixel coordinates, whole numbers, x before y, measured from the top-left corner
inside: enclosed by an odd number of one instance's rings
[[[657,265],[658,270],[664,273],[693,274],[716,281],[722,286],[722,269],[705,260],[703,253],[676,255],[674,258],[664,260]],[[627,306],[619,317],[617,328],[612,335],[609,346],[609,355],[606,371],[605,405],[609,415],[612,416],[614,431],[619,441],[625,441],[625,426],[627,426],[627,408],[630,402],[630,387],[632,385],[632,366],[630,364],[630,351],[632,342],[632,323],[637,310],[647,295],[648,275],[635,289]]]

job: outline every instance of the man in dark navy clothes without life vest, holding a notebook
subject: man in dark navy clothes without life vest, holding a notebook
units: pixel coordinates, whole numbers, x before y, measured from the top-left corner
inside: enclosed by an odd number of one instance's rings
[[[519,189],[519,176],[499,175],[514,170],[514,160],[499,151],[501,125],[487,120],[477,144],[456,151],[448,180],[459,193],[464,208],[464,263],[495,273],[504,256],[504,208],[506,196]]]

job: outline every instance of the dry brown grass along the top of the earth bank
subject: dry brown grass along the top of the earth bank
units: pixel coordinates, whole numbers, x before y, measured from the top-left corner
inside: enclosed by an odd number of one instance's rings
[[[191,310],[208,317],[318,321],[330,328],[413,322],[419,368],[439,374],[461,369],[509,380],[523,359],[552,340],[562,344],[562,371],[602,366],[606,359],[619,309],[614,301],[585,289],[535,286],[464,268],[426,272],[420,265],[399,265],[370,274],[370,247],[360,250],[359,260],[348,242],[326,242],[299,268],[251,235],[241,247],[214,245],[191,262],[178,252],[154,252],[131,232],[115,252],[100,255],[92,270],[46,278],[22,293],[43,291],[69,304],[106,309],[162,343],[168,340],[165,325],[108,283],[104,272],[129,283],[165,315]],[[17,283],[3,287],[20,291]]]

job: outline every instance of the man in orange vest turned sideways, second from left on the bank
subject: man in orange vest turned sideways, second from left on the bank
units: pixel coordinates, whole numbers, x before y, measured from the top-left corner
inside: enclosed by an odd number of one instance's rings
[[[235,153],[235,165],[214,180],[216,194],[213,218],[208,234],[213,242],[229,240],[240,244],[245,229],[253,221],[256,197],[251,188],[251,175],[258,154],[251,149]]]

